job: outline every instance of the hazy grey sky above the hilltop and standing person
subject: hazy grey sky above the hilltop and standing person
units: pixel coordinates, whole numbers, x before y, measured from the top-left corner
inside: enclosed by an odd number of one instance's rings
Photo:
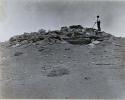
[[[0,41],[41,28],[54,30],[75,24],[92,27],[97,15],[102,31],[125,37],[125,1],[0,0]]]

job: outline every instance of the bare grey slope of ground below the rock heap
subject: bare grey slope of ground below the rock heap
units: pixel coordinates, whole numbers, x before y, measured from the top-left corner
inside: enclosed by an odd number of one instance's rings
[[[1,43],[0,98],[125,98],[125,39],[104,35],[89,34],[87,42],[85,34],[42,34],[35,42],[16,36]]]

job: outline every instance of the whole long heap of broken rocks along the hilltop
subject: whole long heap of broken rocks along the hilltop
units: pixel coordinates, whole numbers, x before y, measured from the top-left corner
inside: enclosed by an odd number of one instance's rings
[[[103,40],[111,35],[105,32],[98,32],[93,28],[83,28],[81,25],[72,25],[61,27],[60,30],[48,31],[40,29],[38,32],[24,33],[11,37],[9,42],[11,45],[36,43],[47,40],[48,43],[56,43],[57,41],[65,40],[72,44],[88,44],[93,39]]]

